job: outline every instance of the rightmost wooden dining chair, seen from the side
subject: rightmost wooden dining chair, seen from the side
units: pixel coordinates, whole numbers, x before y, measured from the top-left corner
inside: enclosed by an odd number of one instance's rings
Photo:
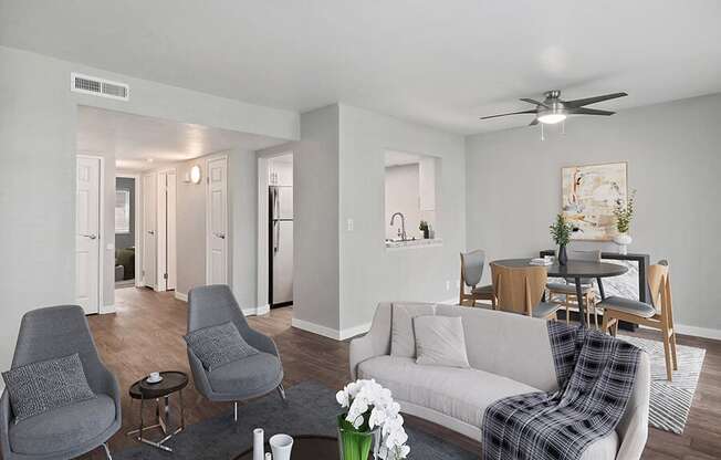
[[[657,264],[650,265],[647,273],[646,280],[651,292],[651,304],[618,296],[607,297],[598,304],[604,309],[603,331],[610,330],[610,334],[615,336],[619,321],[661,331],[666,376],[671,381],[672,370],[678,370],[678,360],[668,261],[660,260]]]

